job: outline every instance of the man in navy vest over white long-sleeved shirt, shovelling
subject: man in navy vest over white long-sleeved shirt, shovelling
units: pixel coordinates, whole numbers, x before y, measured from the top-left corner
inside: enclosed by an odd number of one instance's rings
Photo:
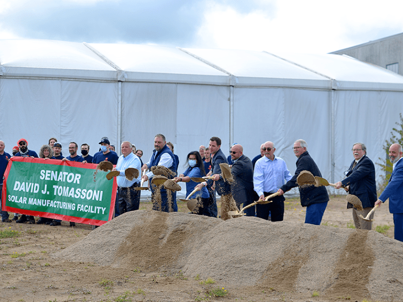
[[[172,179],[174,176],[174,171],[176,168],[176,159],[171,150],[167,146],[167,142],[165,140],[165,136],[162,134],[157,134],[154,137],[154,151],[153,155],[150,158],[150,161],[143,165],[142,171],[150,169],[148,173],[146,173],[143,178],[144,181],[150,180],[150,189],[152,193],[152,201],[153,201],[153,210],[160,210],[163,212],[178,211],[178,206],[176,205],[176,201],[172,198],[172,191],[167,190],[165,188],[161,188],[161,207],[159,206],[159,200],[156,199],[156,187],[151,183],[154,173],[151,172],[151,168],[154,166],[164,166],[172,171],[172,175],[168,175],[167,177]],[[170,194],[168,196],[167,194]],[[159,194],[158,194],[159,195]],[[168,198],[169,197],[169,198]],[[168,199],[171,204],[168,203]]]

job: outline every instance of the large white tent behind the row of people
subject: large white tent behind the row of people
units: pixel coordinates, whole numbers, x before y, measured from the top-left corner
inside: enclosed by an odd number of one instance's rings
[[[403,77],[347,56],[0,40],[0,139],[38,152],[52,136],[98,150],[101,137],[144,150],[163,133],[186,155],[221,137],[253,158],[271,140],[291,173],[296,139],[331,182],[360,141],[374,163],[403,109]],[[381,171],[378,166],[377,176]]]

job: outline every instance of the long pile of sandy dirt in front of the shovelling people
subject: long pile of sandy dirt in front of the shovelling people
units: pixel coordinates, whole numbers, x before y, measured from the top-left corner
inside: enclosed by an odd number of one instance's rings
[[[229,286],[354,299],[403,298],[403,244],[374,231],[256,217],[223,221],[138,210],[55,254],[148,271],[179,271]]]

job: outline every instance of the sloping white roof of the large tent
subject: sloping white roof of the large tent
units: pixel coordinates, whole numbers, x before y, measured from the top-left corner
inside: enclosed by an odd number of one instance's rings
[[[403,91],[403,77],[334,54],[0,40],[0,75],[337,90]]]

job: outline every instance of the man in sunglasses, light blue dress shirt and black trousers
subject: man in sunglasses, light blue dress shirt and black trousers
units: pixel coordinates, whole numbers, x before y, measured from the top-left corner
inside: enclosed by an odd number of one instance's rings
[[[292,178],[286,162],[274,155],[276,148],[273,142],[266,141],[262,150],[264,157],[257,160],[253,172],[253,187],[259,200],[276,193]],[[270,214],[272,221],[283,221],[286,199],[284,196],[276,196],[272,200],[270,203],[256,204],[256,216],[268,220]]]

